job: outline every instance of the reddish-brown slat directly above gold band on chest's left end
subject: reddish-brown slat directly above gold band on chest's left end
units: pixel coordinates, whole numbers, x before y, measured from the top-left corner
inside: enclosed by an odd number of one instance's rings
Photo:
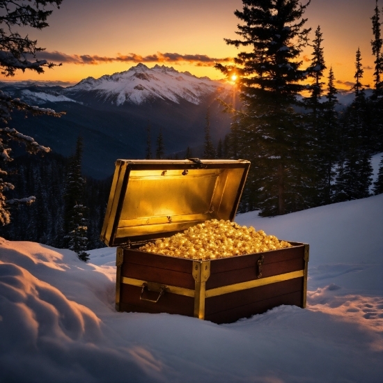
[[[192,270],[189,273],[175,272],[173,270],[159,269],[158,267],[124,262],[121,267],[121,276],[193,290],[195,288]]]

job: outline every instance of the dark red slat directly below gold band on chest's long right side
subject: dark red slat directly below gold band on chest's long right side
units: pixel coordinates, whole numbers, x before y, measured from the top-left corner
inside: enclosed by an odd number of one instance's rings
[[[250,288],[247,290],[230,292],[229,294],[217,295],[210,297],[205,302],[205,315],[210,315],[222,311],[229,310],[245,304],[260,302],[279,295],[286,295],[290,292],[300,291],[303,293],[303,278],[290,279],[288,281],[271,283],[265,286]]]

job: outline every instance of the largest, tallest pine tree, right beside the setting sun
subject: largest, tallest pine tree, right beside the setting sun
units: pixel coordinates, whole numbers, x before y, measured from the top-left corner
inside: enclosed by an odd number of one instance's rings
[[[240,75],[243,113],[239,116],[241,158],[251,160],[247,189],[249,199],[260,196],[261,215],[286,214],[306,207],[306,142],[302,116],[292,109],[304,89],[299,55],[307,45],[310,29],[302,18],[310,1],[242,0],[235,10],[238,40],[228,45],[244,47],[235,58]],[[233,67],[217,64],[229,75]],[[258,181],[259,182],[258,182]],[[257,181],[257,182],[256,182]]]

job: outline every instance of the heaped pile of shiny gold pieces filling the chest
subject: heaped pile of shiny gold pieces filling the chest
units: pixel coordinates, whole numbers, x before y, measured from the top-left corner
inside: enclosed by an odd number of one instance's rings
[[[266,235],[263,230],[256,231],[252,226],[247,228],[235,222],[212,219],[192,226],[184,233],[150,242],[139,249],[165,256],[208,260],[285,247],[291,247],[291,244],[279,241],[274,235]]]

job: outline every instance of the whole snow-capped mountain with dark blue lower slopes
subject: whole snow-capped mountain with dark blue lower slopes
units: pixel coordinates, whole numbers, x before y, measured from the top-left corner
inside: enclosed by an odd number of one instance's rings
[[[164,65],[148,68],[140,63],[67,88],[26,81],[3,82],[0,89],[30,104],[66,111],[61,118],[27,119],[16,112],[9,125],[65,156],[73,152],[81,134],[83,169],[95,178],[111,175],[118,158],[144,158],[149,124],[153,153],[161,129],[166,155],[185,153],[187,146],[195,156],[201,155],[208,109],[214,143],[230,130],[230,116],[221,112],[217,101],[233,99],[230,84]]]

